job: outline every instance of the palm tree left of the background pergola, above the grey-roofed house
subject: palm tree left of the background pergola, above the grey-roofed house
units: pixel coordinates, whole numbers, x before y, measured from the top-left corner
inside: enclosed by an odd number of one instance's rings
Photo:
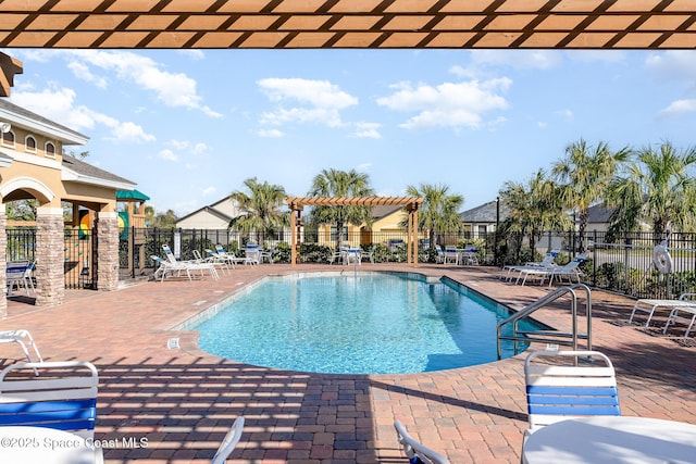
[[[281,211],[287,195],[282,186],[259,183],[256,177],[245,180],[244,185],[248,193],[234,191],[229,195],[243,212],[232,220],[229,227],[246,234],[256,233],[259,244],[263,246],[268,234],[277,233],[289,224],[289,213]]]

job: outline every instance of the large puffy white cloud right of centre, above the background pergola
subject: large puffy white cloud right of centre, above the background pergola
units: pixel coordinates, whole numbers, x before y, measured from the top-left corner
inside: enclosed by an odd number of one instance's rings
[[[436,87],[400,83],[396,91],[377,99],[377,104],[390,110],[418,113],[400,127],[469,127],[480,129],[486,126],[483,114],[506,110],[507,100],[500,95],[512,84],[507,77],[489,80],[445,83]]]

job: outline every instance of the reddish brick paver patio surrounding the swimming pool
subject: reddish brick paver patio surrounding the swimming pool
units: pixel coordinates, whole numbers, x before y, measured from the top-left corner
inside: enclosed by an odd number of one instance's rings
[[[103,443],[107,463],[209,463],[238,415],[247,422],[232,463],[403,463],[395,418],[452,463],[520,462],[524,354],[437,373],[321,375],[223,360],[200,351],[195,331],[171,330],[266,274],[320,269],[336,266],[240,266],[220,281],[70,292],[65,304],[49,309],[10,302],[0,329],[30,330],[47,361],[97,365],[96,439],[110,440]],[[448,275],[515,309],[547,291],[505,284],[497,269],[477,266],[362,269]],[[614,363],[623,414],[696,424],[696,348],[676,342],[684,327],[651,336],[622,324],[631,300],[599,291],[592,297],[593,344]],[[568,330],[567,308],[540,310],[535,318]],[[656,318],[655,327],[663,321]],[[167,348],[174,337],[178,349]],[[7,365],[22,361],[21,354],[5,344],[0,359]]]

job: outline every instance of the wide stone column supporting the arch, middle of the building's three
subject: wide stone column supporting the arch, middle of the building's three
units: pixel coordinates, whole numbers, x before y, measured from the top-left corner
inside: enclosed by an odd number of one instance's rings
[[[63,209],[36,209],[36,305],[65,301],[65,239]]]

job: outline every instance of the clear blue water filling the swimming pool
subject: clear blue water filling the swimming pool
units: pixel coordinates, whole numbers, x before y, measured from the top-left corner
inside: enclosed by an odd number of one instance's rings
[[[191,328],[209,353],[293,371],[405,374],[497,361],[496,327],[509,313],[467,293],[398,274],[269,277]],[[514,354],[502,346],[504,358]]]

